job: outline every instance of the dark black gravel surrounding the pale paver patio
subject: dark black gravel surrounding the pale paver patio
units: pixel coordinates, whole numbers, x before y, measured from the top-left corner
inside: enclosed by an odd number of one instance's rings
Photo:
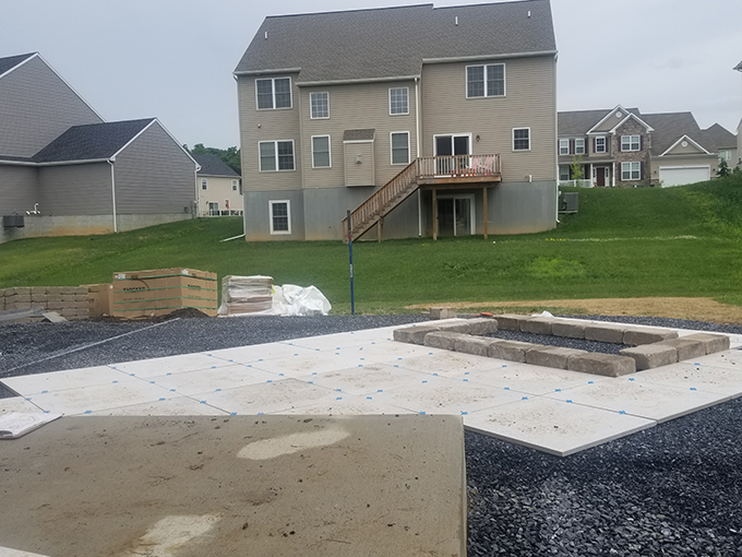
[[[739,325],[590,318],[742,334]],[[0,378],[422,320],[4,324]],[[465,440],[469,556],[742,557],[742,399],[566,458],[474,432]]]

